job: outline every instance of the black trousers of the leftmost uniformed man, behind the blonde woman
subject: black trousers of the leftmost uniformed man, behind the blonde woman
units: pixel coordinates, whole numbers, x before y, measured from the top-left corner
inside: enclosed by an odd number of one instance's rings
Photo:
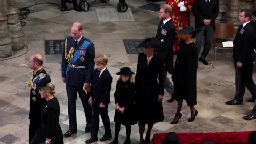
[[[36,132],[38,131],[39,129],[39,126],[41,124],[41,121],[40,119],[30,119],[29,120],[29,128],[28,128],[28,142],[30,143],[31,140],[34,139],[35,135],[36,135]],[[35,141],[33,143],[36,143]]]

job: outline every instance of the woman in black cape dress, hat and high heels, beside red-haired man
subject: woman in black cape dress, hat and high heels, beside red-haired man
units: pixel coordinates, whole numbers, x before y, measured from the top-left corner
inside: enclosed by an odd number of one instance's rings
[[[197,49],[192,38],[195,38],[199,30],[192,26],[185,26],[177,31],[182,34],[183,41],[179,42],[179,52],[174,66],[174,91],[177,94],[178,108],[171,124],[177,124],[181,118],[181,107],[183,100],[190,107],[191,117],[188,122],[194,121],[198,111],[196,105],[196,70],[197,70]]]

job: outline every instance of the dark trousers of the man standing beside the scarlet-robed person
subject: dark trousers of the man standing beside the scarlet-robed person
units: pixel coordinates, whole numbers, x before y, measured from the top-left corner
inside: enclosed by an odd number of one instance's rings
[[[201,27],[201,31],[196,34],[196,47],[197,47],[198,57],[200,56],[203,38],[204,38],[204,49],[201,53],[201,56],[205,58],[209,54],[209,51],[211,49],[211,44],[213,42],[213,33],[214,33],[213,26],[207,25],[207,26]]]

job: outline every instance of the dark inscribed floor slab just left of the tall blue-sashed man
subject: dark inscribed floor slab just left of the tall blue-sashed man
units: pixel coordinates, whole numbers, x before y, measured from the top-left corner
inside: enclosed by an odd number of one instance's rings
[[[55,55],[62,54],[65,40],[45,40],[45,54]]]

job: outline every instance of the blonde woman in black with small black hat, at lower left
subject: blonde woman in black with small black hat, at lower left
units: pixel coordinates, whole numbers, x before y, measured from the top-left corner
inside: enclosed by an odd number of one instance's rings
[[[58,143],[62,144],[63,134],[59,124],[60,105],[57,98],[54,97],[55,85],[51,82],[49,75],[37,82],[37,89],[41,98],[46,99],[45,106],[42,109],[42,121],[37,133],[37,143]]]

